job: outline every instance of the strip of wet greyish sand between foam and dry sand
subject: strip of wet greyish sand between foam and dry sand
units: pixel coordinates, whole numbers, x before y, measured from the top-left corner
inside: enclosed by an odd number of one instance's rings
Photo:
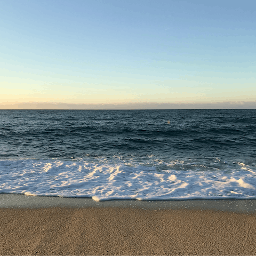
[[[1,208],[36,209],[47,207],[117,207],[147,210],[214,210],[256,214],[256,199],[187,199],[187,200],[110,200],[94,201],[92,198],[28,196],[22,194],[0,194]]]

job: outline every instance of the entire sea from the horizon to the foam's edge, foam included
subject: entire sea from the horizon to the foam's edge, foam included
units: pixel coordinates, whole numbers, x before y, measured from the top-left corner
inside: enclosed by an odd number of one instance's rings
[[[0,110],[0,193],[256,198],[256,109]]]

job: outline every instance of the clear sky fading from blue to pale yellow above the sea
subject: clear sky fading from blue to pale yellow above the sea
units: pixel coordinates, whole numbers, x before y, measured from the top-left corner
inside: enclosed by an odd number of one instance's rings
[[[256,108],[255,0],[0,4],[0,108]]]

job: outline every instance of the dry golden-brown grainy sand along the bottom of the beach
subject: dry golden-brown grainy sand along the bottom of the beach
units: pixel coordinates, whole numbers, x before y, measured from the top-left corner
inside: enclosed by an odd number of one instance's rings
[[[0,209],[0,255],[256,255],[256,215],[130,208]]]

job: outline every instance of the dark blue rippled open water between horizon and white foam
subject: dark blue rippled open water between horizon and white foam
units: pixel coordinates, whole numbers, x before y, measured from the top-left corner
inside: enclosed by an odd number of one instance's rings
[[[256,109],[0,110],[0,159],[151,154],[255,161]]]

